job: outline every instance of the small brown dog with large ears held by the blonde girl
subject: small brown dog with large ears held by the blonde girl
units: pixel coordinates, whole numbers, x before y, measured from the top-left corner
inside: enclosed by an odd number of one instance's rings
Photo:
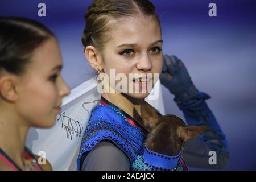
[[[170,156],[176,156],[187,140],[196,138],[207,129],[207,126],[186,126],[175,115],[162,116],[146,101],[142,101],[141,116],[134,109],[134,119],[148,131],[144,145],[151,151]]]

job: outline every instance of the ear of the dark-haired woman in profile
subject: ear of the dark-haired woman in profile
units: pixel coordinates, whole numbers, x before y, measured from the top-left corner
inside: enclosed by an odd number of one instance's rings
[[[15,102],[18,99],[15,82],[15,76],[3,75],[0,77],[0,96],[3,100]]]

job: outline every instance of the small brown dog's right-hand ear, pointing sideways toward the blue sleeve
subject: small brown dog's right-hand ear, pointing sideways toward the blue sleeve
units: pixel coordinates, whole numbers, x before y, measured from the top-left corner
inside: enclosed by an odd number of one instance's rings
[[[207,129],[207,126],[185,126],[177,128],[177,136],[187,142],[189,139],[196,138]]]

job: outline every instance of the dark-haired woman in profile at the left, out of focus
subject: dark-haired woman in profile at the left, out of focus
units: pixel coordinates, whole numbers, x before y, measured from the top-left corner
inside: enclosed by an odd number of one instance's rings
[[[0,17],[0,27],[0,170],[51,170],[25,140],[30,127],[54,125],[69,94],[59,46],[34,20]]]

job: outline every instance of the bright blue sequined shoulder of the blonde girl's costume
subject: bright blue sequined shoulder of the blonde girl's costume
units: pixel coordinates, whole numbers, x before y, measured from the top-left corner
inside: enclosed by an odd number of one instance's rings
[[[88,126],[82,138],[77,169],[84,152],[97,146],[102,140],[110,140],[128,156],[133,164],[138,155],[143,155],[143,142],[146,136],[138,127],[131,125],[125,115],[116,107],[97,105],[92,109]]]

